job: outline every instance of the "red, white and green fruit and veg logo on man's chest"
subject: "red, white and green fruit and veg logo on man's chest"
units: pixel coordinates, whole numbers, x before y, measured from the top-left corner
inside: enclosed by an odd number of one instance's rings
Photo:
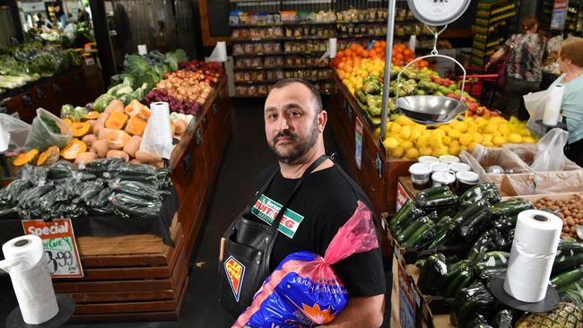
[[[265,223],[271,225],[271,222],[274,221],[275,216],[277,216],[277,213],[281,209],[282,204],[274,202],[272,199],[265,196],[265,194],[262,194],[253,207],[251,207],[251,213],[255,214],[257,218],[264,220]],[[304,220],[304,217],[299,213],[290,209],[285,209],[282,220],[279,221],[277,230],[283,233],[283,235],[292,238],[298,230],[298,227],[300,227],[302,220]]]

